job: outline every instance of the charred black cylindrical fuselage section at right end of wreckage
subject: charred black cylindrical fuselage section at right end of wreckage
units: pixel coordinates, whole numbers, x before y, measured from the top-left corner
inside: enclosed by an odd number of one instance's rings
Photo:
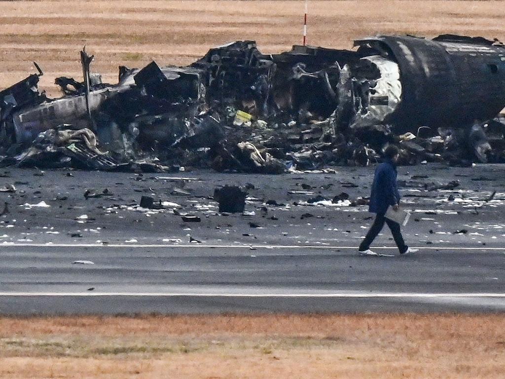
[[[398,130],[459,127],[493,118],[505,107],[505,49],[483,38],[378,36],[356,41],[390,54],[400,68]],[[361,49],[361,48],[360,48]]]

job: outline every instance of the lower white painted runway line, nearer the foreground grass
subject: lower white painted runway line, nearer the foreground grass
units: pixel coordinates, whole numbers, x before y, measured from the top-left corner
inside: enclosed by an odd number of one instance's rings
[[[234,293],[164,293],[164,292],[0,292],[0,297],[238,297],[238,298],[505,298],[505,293],[328,293],[328,294],[234,294]]]

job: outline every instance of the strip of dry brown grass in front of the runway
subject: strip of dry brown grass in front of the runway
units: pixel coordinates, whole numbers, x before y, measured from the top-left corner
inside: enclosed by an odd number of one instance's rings
[[[502,378],[502,315],[0,318],[2,378]]]

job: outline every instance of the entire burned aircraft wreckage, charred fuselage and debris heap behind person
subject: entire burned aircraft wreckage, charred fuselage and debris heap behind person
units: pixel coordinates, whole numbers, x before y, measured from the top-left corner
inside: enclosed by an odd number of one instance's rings
[[[119,68],[104,84],[42,71],[0,91],[0,164],[100,170],[280,173],[367,165],[387,144],[401,162],[505,162],[505,47],[481,37],[378,36],[356,50],[254,41],[211,49],[187,67]]]

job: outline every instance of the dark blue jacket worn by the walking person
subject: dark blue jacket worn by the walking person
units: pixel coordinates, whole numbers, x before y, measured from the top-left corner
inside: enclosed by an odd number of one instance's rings
[[[387,160],[375,169],[368,210],[372,213],[386,213],[390,205],[398,204],[399,201],[400,194],[396,188],[396,165]]]

